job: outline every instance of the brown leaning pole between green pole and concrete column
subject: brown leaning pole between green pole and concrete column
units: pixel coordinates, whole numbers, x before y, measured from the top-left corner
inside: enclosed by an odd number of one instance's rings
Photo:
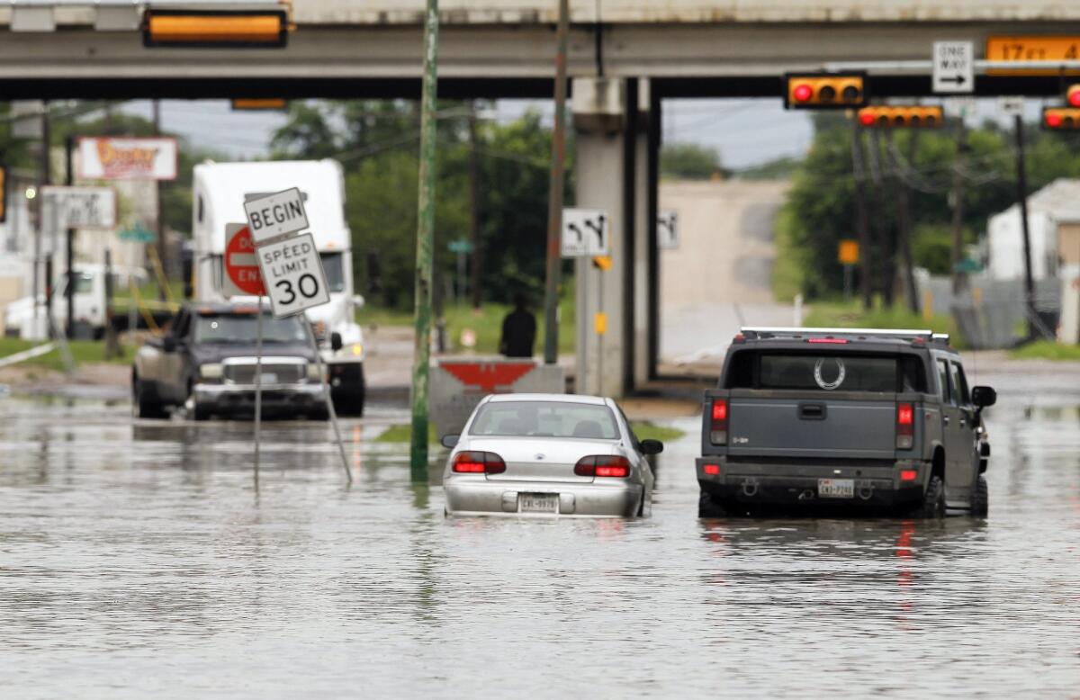
[[[558,2],[557,49],[555,52],[555,130],[551,138],[551,189],[548,192],[548,280],[544,288],[543,361],[558,361],[558,283],[563,260],[559,237],[563,231],[563,163],[566,158],[566,36],[569,31],[569,0]]]

